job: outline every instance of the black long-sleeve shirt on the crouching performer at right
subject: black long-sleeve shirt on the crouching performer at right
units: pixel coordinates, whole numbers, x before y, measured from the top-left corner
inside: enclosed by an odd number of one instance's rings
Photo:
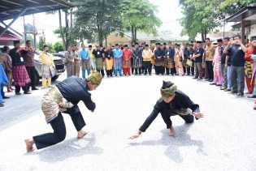
[[[145,130],[150,126],[154,119],[157,118],[158,113],[167,115],[168,118],[176,115],[176,113],[172,113],[174,109],[192,109],[193,112],[199,112],[199,105],[194,104],[193,101],[190,100],[189,96],[185,95],[183,92],[176,91],[176,96],[173,100],[171,100],[170,103],[166,103],[162,98],[156,102],[152,113],[150,113],[150,116],[145,119],[145,122],[139,130],[145,132]]]

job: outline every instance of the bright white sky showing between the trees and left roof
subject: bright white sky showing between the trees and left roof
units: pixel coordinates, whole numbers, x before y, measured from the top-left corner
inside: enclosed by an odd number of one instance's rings
[[[182,17],[180,12],[179,0],[150,0],[154,5],[158,6],[158,18],[162,20],[163,25],[158,28],[159,31],[169,31],[174,36],[179,36],[181,26],[178,21]],[[46,15],[46,13],[40,13],[35,15],[36,27],[39,32],[44,30],[46,33],[47,42],[60,41],[54,35],[53,30],[59,28],[59,17],[56,15]],[[64,18],[64,17],[63,17]],[[33,24],[32,15],[25,16],[26,24]],[[63,22],[64,24],[64,22]],[[24,32],[23,18],[18,19],[15,24],[12,25],[18,32]]]

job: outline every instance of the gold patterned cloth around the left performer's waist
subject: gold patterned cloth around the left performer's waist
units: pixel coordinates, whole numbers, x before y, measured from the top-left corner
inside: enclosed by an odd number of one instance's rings
[[[50,88],[41,100],[41,110],[45,114],[46,122],[49,123],[56,118],[59,112],[64,112],[67,108],[72,108],[74,105],[68,102],[59,92],[57,87]]]

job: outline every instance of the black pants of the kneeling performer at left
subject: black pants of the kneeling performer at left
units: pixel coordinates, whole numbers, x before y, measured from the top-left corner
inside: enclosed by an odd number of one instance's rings
[[[74,110],[67,110],[67,112],[72,118],[72,122],[76,127],[76,130],[81,130],[85,126],[85,120],[80,113],[78,107],[76,106]],[[56,143],[60,143],[66,138],[66,126],[62,113],[59,113],[58,117],[54,118],[54,120],[50,122],[50,126],[53,128],[54,133],[46,133],[43,135],[33,136],[33,140],[36,144],[37,149],[49,147]]]

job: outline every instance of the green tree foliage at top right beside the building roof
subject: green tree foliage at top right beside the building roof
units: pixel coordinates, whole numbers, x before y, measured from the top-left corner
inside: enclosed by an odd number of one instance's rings
[[[206,33],[220,26],[228,15],[236,13],[252,2],[255,0],[180,0],[184,15],[180,19],[183,26],[181,34],[187,34],[190,40],[194,40],[197,33],[201,33],[204,39]]]

